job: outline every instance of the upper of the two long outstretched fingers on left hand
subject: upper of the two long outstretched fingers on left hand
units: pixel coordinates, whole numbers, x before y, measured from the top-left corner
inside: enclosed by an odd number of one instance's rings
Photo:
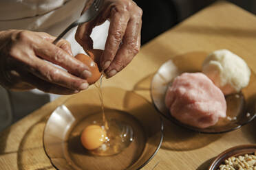
[[[70,56],[70,54],[63,51],[63,49],[56,47],[56,45],[53,45],[51,42],[41,41],[39,43],[34,43],[33,48],[36,56],[40,56],[47,61],[58,64],[74,75],[82,77],[83,79],[92,76],[88,66],[83,64],[83,62],[76,60],[76,58]]]

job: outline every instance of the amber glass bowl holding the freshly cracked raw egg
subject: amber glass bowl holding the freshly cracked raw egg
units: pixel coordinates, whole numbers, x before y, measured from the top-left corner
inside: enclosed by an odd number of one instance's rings
[[[160,148],[162,119],[146,99],[120,88],[102,91],[106,118],[131,125],[134,141],[113,156],[92,155],[81,145],[83,121],[102,112],[96,88],[85,90],[56,108],[45,125],[43,146],[57,169],[141,169]],[[120,114],[111,114],[111,110]]]

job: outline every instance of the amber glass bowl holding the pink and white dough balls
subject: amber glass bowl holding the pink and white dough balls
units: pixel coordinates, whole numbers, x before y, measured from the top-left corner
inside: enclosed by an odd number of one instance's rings
[[[252,70],[250,75],[250,83],[248,86],[242,89],[242,92],[239,94],[226,96],[226,118],[219,119],[219,121],[211,127],[201,129],[198,127],[185,125],[172,117],[169,113],[169,109],[165,106],[165,93],[173,79],[184,72],[200,72],[202,62],[206,56],[207,53],[196,51],[184,53],[181,56],[177,56],[172,60],[164,62],[151,81],[151,99],[153,104],[163,117],[169,121],[172,121],[176,125],[185,127],[195,132],[205,134],[220,134],[236,130],[239,127],[242,127],[242,125],[249,123],[256,117],[256,76]]]

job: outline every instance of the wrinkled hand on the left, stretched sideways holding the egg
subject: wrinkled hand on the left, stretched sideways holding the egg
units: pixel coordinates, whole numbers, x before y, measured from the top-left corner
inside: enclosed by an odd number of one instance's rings
[[[25,30],[0,32],[1,86],[10,90],[39,88],[60,95],[86,89],[88,84],[84,79],[91,75],[88,67],[72,57],[70,43],[66,40],[53,45],[55,38]]]

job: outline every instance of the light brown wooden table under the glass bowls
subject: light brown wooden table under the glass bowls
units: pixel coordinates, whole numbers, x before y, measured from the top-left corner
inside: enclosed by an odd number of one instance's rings
[[[104,86],[132,90],[151,102],[149,87],[159,66],[182,53],[230,49],[256,72],[256,17],[224,1],[214,3],[144,45],[125,71],[105,80]],[[93,87],[91,87],[93,88]],[[52,110],[68,96],[46,104],[1,132],[0,169],[54,169],[43,150],[43,128]],[[143,169],[209,167],[220,152],[256,142],[256,121],[222,135],[197,134],[164,122],[164,143]]]

